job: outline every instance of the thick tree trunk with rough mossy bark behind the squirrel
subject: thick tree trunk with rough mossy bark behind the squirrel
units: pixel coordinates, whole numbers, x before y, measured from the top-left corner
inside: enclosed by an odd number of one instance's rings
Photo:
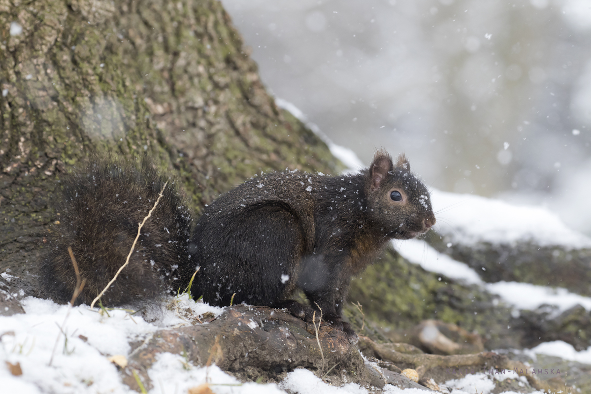
[[[34,269],[61,175],[94,152],[176,171],[199,212],[257,172],[335,172],[215,0],[0,0],[0,271]]]

